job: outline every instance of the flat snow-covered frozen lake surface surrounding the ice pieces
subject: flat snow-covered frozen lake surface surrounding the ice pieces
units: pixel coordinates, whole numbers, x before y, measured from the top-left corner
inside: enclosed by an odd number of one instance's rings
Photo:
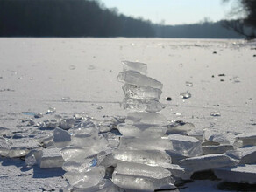
[[[169,120],[224,134],[256,133],[255,47],[219,39],[0,38],[0,127],[25,132],[32,127],[22,124],[30,118],[22,112],[46,113],[49,107],[68,116],[125,115],[116,77],[121,61],[130,60],[148,64],[148,76],[163,83],[160,101],[167,105],[162,113]],[[192,97],[181,99],[186,91]],[[23,168],[19,159],[0,162],[0,191],[61,189],[67,184],[61,169]],[[209,181],[185,187],[181,191],[217,191]]]

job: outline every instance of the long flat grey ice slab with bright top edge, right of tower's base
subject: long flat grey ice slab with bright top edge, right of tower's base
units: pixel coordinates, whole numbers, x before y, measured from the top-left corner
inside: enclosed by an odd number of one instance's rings
[[[238,161],[232,160],[224,154],[207,154],[198,157],[191,157],[181,160],[181,166],[191,168],[194,172],[209,170],[211,168],[231,167],[238,164]]]

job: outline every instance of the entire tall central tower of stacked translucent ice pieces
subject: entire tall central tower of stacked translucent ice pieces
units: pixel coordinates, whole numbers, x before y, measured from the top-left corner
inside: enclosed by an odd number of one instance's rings
[[[147,66],[138,62],[123,62],[124,70],[117,81],[124,83],[124,109],[131,112],[117,129],[123,137],[113,152],[117,168],[112,181],[127,191],[153,191],[174,188],[174,179],[167,170],[172,163],[166,150],[172,143],[163,135],[167,119],[160,113],[162,84],[146,76]]]

